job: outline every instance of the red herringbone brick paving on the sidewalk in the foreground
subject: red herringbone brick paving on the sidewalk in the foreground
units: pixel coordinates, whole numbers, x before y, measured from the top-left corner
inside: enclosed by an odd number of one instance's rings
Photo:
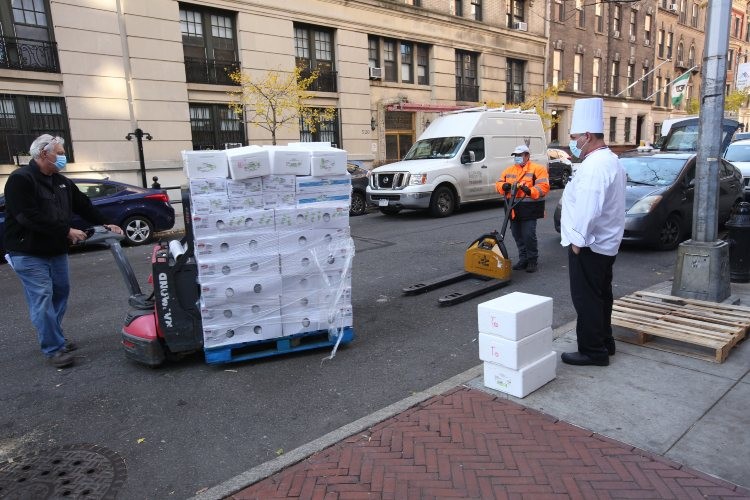
[[[750,492],[461,387],[351,436],[232,498],[730,497],[750,498]]]

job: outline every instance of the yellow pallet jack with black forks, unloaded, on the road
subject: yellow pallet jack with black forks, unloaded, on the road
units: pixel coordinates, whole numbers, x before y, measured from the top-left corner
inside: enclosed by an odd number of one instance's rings
[[[463,271],[407,286],[402,290],[403,294],[419,295],[453,283],[469,279],[479,280],[478,286],[453,291],[438,298],[438,305],[452,306],[508,285],[511,281],[512,269],[508,250],[505,247],[505,232],[508,229],[513,208],[521,201],[520,198],[516,199],[518,191],[518,184],[513,183],[510,200],[505,204],[505,220],[500,232],[492,231],[483,234],[469,244],[464,254]]]

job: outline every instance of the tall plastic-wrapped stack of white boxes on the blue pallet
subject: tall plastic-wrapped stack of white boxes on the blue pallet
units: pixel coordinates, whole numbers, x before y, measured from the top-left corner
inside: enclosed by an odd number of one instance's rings
[[[297,143],[183,159],[206,348],[352,326],[346,151]]]

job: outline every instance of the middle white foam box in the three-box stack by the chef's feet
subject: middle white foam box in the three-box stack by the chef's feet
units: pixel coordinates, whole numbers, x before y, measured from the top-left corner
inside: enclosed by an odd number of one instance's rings
[[[521,340],[479,334],[479,359],[518,370],[543,358],[552,350],[552,328],[547,327]]]

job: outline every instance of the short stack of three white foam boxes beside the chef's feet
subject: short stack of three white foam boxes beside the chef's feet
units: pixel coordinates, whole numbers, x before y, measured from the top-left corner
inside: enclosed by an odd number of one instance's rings
[[[552,299],[513,292],[477,306],[484,385],[523,398],[555,378]]]

